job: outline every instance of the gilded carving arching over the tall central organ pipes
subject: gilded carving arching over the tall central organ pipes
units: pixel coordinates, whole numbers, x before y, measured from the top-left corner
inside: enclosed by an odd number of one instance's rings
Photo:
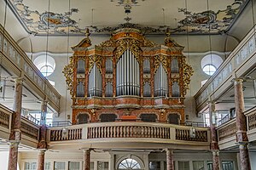
[[[141,49],[140,42],[133,38],[127,38],[127,39],[120,39],[116,42],[117,48],[116,48],[116,57],[117,60],[121,57],[122,54],[124,54],[125,50],[130,49],[131,53],[134,54],[137,61],[140,63],[140,55],[141,55]]]

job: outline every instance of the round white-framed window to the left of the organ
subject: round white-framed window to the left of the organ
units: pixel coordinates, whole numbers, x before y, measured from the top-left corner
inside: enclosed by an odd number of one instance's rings
[[[44,75],[49,77],[55,71],[55,59],[49,55],[40,55],[34,59],[34,64],[38,67],[38,70]]]

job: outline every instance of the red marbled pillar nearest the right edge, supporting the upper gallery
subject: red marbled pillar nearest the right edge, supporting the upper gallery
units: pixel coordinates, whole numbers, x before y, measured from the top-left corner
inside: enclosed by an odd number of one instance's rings
[[[241,170],[250,170],[250,159],[247,149],[248,138],[247,138],[247,121],[244,112],[244,99],[242,92],[242,79],[236,79],[234,82],[235,88],[235,106],[236,106],[236,141],[239,144],[240,152],[240,165]]]

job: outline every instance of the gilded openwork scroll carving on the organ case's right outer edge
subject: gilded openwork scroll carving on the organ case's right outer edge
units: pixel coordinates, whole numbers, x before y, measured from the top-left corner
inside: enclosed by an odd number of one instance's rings
[[[183,96],[187,94],[189,89],[190,77],[192,77],[194,71],[190,65],[186,63],[186,57],[183,57]]]

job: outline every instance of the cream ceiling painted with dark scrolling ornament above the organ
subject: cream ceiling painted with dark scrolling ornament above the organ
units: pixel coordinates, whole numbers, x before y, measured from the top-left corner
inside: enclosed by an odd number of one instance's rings
[[[230,29],[247,2],[89,0],[78,3],[78,0],[8,0],[26,31],[38,36],[84,35],[86,28],[91,33],[108,34],[123,27],[138,28],[145,34],[165,33],[167,28],[172,34],[216,34]]]

